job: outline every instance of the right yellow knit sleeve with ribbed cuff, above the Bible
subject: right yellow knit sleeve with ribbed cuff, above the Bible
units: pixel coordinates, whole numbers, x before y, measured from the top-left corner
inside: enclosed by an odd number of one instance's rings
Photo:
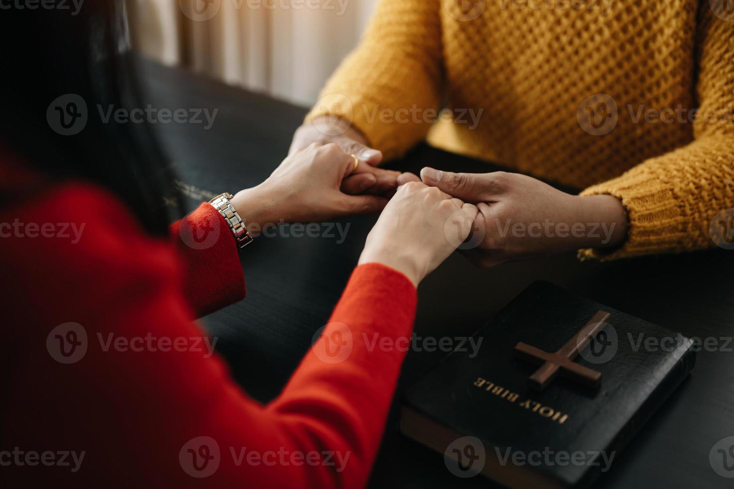
[[[698,27],[694,141],[649,159],[581,195],[609,194],[627,209],[627,239],[617,250],[581,258],[622,258],[713,247],[709,223],[734,207],[734,23],[702,8]]]

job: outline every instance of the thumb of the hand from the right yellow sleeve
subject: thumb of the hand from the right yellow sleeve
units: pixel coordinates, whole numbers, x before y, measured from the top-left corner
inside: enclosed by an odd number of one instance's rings
[[[425,184],[469,202],[491,200],[493,194],[502,191],[502,178],[503,172],[453,173],[431,167],[421,170],[421,179]]]

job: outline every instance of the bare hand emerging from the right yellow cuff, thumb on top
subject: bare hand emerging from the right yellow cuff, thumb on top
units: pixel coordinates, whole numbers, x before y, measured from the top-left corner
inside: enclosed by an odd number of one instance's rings
[[[580,197],[518,173],[451,173],[424,168],[425,184],[477,203],[472,234],[460,249],[480,267],[579,248],[614,248],[627,214],[611,195]]]

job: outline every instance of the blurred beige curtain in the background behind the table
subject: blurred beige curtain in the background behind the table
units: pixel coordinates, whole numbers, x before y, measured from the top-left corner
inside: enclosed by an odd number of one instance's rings
[[[228,84],[313,104],[377,0],[136,0],[137,47]]]

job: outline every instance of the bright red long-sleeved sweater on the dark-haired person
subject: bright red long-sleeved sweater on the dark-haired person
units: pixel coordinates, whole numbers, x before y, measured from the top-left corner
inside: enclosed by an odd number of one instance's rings
[[[245,294],[236,245],[211,206],[184,220],[219,231],[211,247],[195,250],[179,223],[172,243],[152,239],[93,186],[27,197],[0,208],[0,480],[34,488],[49,480],[365,485],[404,357],[372,340],[410,335],[410,280],[379,264],[357,267],[324,335],[282,394],[261,405],[211,355],[195,322]]]

